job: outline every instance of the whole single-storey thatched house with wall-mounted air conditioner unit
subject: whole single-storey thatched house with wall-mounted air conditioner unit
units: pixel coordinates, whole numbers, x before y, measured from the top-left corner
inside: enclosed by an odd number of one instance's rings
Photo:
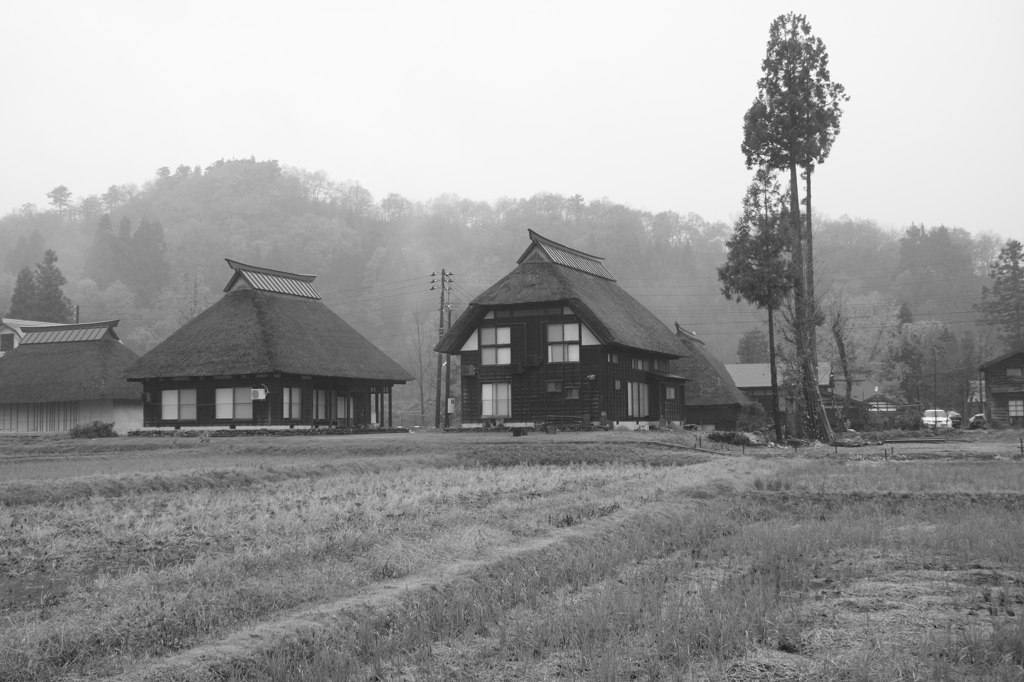
[[[391,426],[413,377],[321,302],[315,275],[228,260],[224,296],[129,368],[146,427]]]

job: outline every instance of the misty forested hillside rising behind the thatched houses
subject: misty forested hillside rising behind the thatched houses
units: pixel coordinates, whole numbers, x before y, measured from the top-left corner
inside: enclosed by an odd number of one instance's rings
[[[416,373],[436,340],[430,273],[456,273],[458,315],[515,266],[527,228],[606,257],[627,291],[670,326],[695,331],[725,361],[764,317],[720,294],[716,267],[730,225],[608,199],[542,194],[488,203],[442,195],[414,203],[251,159],[164,168],[142,187],[112,185],[101,197],[51,203],[0,218],[0,307],[17,272],[53,249],[82,319],[120,317],[119,332],[138,352],[216,300],[229,274],[224,258],[232,258],[317,274],[325,303]],[[963,229],[894,233],[849,219],[818,221],[815,242],[824,287],[905,302],[915,317],[947,323],[973,319],[967,313],[998,247],[994,237]]]

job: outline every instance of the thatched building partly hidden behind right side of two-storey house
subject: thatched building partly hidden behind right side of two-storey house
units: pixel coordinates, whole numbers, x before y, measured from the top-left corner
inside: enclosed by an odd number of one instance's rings
[[[686,377],[686,423],[705,430],[735,431],[739,415],[752,400],[736,388],[725,365],[705,342],[676,323],[676,338],[688,355],[669,364],[669,371]],[[768,410],[771,414],[771,409]]]

